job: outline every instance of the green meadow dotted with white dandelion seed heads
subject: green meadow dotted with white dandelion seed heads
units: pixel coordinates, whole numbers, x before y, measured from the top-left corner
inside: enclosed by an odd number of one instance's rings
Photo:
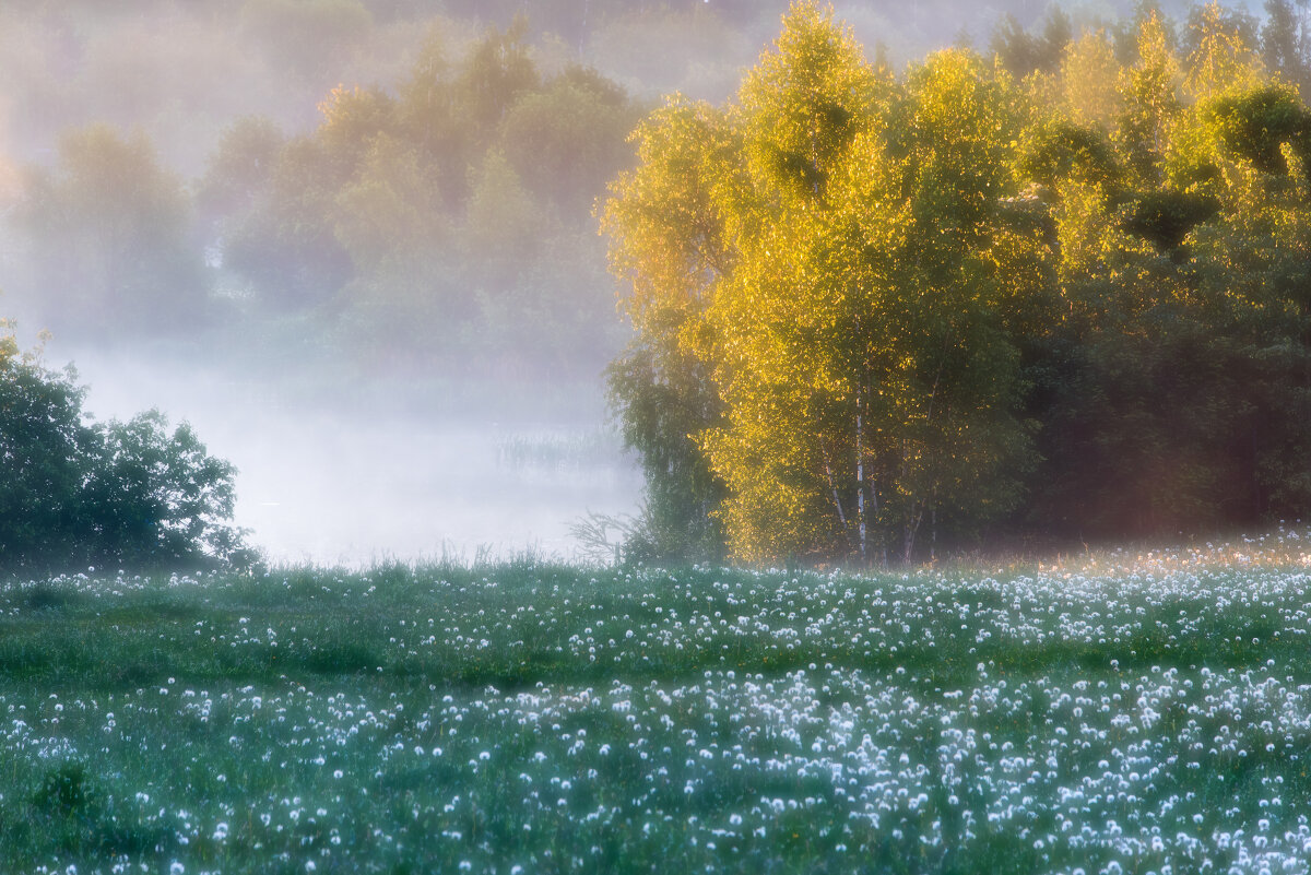
[[[1308,554],[0,583],[0,871],[1308,872]]]

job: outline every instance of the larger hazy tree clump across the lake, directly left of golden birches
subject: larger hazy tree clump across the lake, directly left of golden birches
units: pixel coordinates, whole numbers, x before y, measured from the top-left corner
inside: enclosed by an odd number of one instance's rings
[[[201,195],[248,308],[371,373],[593,377],[615,354],[586,267],[594,199],[632,158],[623,89],[543,77],[517,21],[463,55],[433,30],[395,94],[338,86],[319,109],[290,141],[241,122],[211,158]]]

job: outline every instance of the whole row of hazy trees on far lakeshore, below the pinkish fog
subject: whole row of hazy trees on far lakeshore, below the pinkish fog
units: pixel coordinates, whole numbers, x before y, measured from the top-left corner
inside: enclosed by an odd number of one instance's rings
[[[142,132],[69,130],[9,223],[29,318],[60,338],[307,338],[368,371],[591,376],[621,346],[593,203],[640,109],[543,72],[524,20],[463,52],[433,31],[391,89],[317,124],[224,130],[186,181]]]

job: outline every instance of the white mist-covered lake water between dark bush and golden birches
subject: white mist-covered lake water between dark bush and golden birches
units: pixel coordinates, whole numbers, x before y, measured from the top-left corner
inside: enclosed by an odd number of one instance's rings
[[[59,363],[59,347],[47,352]],[[197,364],[83,352],[75,360],[98,420],[159,407],[191,423],[210,453],[239,469],[239,525],[271,562],[368,565],[526,550],[570,558],[570,524],[625,513],[641,474],[597,397],[595,417],[522,419],[507,388],[501,414],[362,415],[288,397],[271,377]],[[582,392],[582,390],[581,390]],[[496,400],[489,400],[493,411]]]

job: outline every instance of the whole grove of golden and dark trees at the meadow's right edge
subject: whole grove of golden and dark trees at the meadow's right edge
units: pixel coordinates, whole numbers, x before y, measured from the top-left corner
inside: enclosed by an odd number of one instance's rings
[[[886,563],[1303,513],[1307,52],[1269,12],[1003,22],[990,55],[898,73],[802,1],[735,100],[652,113],[603,214],[649,485],[629,555]]]

